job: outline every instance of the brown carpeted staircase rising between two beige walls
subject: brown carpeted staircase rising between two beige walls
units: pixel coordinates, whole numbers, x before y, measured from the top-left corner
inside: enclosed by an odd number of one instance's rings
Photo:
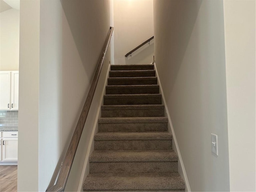
[[[184,191],[154,65],[113,65],[86,192]]]

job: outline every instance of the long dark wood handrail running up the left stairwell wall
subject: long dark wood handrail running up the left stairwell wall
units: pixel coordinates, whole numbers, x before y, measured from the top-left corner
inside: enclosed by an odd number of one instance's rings
[[[96,90],[96,86],[97,86],[97,83],[99,80],[102,65],[106,58],[106,53],[108,50],[108,46],[110,44],[110,38],[112,36],[113,30],[114,30],[114,27],[110,27],[110,31],[108,33],[107,40],[106,40],[104,48],[102,50],[102,54],[100,56],[98,67],[95,72],[94,78],[92,80],[90,90],[88,92],[86,101],[84,103],[84,107],[82,109],[81,115],[80,115],[78,123],[76,125],[76,129],[75,129],[72,139],[70,141],[68,151],[66,153],[64,161],[62,162],[62,166],[60,167],[60,172],[58,174],[56,184],[54,184],[54,186],[48,186],[48,188],[46,190],[47,192],[63,191],[66,186],[66,182],[68,180],[68,175],[70,173],[70,169],[71,169],[71,166],[72,166],[75,154],[76,154],[76,149],[78,147],[78,143],[79,143],[80,137],[82,135],[82,131],[84,129],[84,124],[85,124],[90,106],[92,104],[92,98],[93,98],[94,92]]]

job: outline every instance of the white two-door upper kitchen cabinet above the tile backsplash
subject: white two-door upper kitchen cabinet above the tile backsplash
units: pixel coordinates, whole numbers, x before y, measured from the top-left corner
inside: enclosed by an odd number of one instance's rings
[[[19,72],[0,71],[0,110],[18,110]]]

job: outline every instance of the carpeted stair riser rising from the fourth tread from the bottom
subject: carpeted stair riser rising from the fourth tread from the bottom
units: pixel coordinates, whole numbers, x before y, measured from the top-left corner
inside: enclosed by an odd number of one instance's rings
[[[163,117],[164,109],[101,110],[102,117]]]

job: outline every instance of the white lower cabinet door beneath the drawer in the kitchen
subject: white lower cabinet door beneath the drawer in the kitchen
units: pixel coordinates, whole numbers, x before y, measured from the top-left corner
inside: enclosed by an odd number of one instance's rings
[[[18,138],[3,138],[3,161],[18,161]]]

